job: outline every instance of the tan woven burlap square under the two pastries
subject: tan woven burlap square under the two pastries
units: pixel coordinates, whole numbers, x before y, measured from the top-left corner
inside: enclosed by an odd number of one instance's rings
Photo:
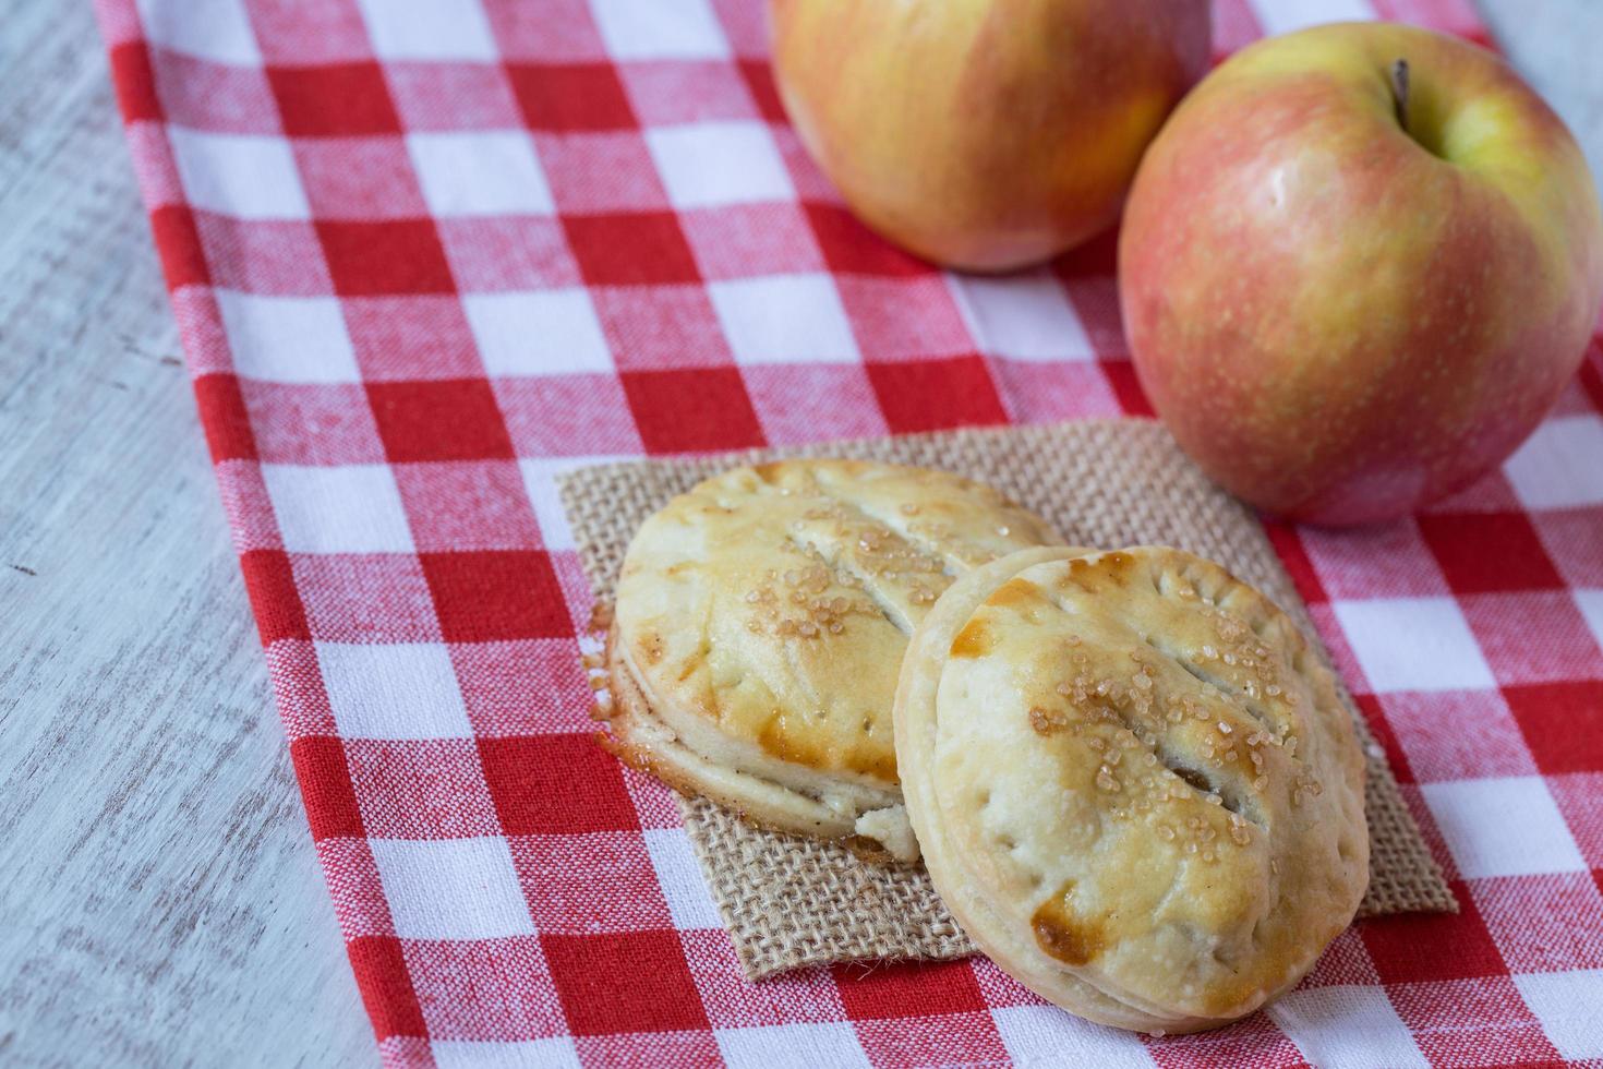
[[[567,521],[598,606],[635,529],[670,497],[726,468],[782,457],[858,457],[946,468],[1036,510],[1071,543],[1175,545],[1213,558],[1281,604],[1318,643],[1306,606],[1263,527],[1215,487],[1151,422],[963,430],[826,442],[694,460],[582,468],[559,478]],[[1321,656],[1324,651],[1321,647]],[[1343,689],[1351,708],[1351,697]],[[1457,912],[1380,745],[1355,710],[1369,756],[1369,893],[1361,917]],[[749,827],[725,809],[683,801],[741,963],[752,979],[861,958],[952,958],[975,952],[922,865],[882,867],[842,846]]]

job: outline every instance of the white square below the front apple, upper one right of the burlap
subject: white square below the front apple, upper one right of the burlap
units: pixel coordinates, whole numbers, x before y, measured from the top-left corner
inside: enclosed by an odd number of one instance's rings
[[[1497,686],[1452,598],[1334,603],[1358,664],[1375,691],[1472,691]]]

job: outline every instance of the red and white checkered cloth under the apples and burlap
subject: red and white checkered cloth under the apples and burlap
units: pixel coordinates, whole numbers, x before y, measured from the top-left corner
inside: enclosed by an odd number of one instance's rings
[[[742,979],[668,793],[588,739],[553,473],[1145,413],[1111,237],[938,272],[787,127],[760,0],[98,0],[351,965],[394,1064],[1603,1058],[1603,346],[1475,489],[1274,543],[1456,881],[1231,1029],[984,958]],[[1467,0],[1221,0],[1220,54]]]

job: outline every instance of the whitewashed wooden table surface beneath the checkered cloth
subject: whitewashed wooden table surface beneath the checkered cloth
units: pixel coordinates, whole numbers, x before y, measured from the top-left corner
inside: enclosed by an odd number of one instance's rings
[[[1483,10],[1603,173],[1603,3]],[[0,75],[0,1064],[373,1064],[88,3]]]

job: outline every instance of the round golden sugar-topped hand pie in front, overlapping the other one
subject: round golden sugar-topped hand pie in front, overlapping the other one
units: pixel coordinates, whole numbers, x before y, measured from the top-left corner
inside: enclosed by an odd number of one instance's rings
[[[997,965],[1186,1032],[1302,978],[1369,881],[1364,763],[1295,625],[1164,547],[1026,550],[954,583],[896,692],[925,864]]]

